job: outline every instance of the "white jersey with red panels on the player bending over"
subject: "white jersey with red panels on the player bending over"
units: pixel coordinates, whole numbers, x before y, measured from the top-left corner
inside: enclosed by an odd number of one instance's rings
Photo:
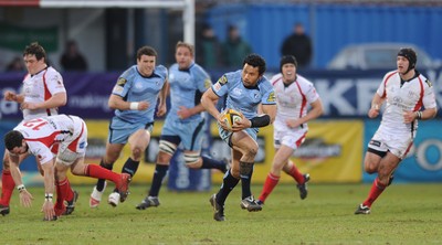
[[[29,152],[40,162],[46,163],[54,153],[71,150],[83,152],[86,149],[86,126],[80,117],[57,115],[34,118],[20,122],[14,130],[20,131],[29,147]]]

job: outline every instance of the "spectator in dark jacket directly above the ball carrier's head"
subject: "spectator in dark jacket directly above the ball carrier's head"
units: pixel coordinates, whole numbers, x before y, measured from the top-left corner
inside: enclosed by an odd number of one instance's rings
[[[225,66],[241,68],[243,57],[252,53],[252,47],[242,40],[236,26],[229,25],[228,39],[222,45],[222,51]]]

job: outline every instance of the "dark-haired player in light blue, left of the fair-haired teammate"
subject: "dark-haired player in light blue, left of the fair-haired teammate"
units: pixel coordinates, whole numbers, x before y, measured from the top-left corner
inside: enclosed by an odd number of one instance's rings
[[[109,124],[109,135],[106,145],[106,155],[101,166],[112,170],[124,146],[130,145],[130,157],[126,160],[122,173],[135,174],[143,152],[150,141],[154,127],[154,113],[158,100],[157,116],[166,114],[167,68],[156,65],[157,52],[150,46],[143,46],[137,51],[137,64],[126,70],[118,78],[108,105],[115,109],[115,116]],[[98,206],[106,182],[98,180],[94,188],[90,205]],[[114,190],[108,203],[118,205],[125,200]]]

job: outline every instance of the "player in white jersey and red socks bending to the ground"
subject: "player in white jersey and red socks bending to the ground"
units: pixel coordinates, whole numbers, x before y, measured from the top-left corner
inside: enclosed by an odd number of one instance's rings
[[[128,193],[129,174],[118,174],[97,164],[84,163],[87,128],[80,117],[57,115],[22,121],[4,136],[4,146],[11,167],[19,164],[20,155],[31,153],[39,158],[44,173],[45,199],[42,210],[46,221],[56,220],[65,213],[64,202],[71,190],[67,169],[75,175],[110,180],[122,196]],[[33,198],[24,188],[18,168],[11,168],[11,174],[18,184],[21,204],[31,206]],[[57,193],[55,204],[52,203],[54,185]]]

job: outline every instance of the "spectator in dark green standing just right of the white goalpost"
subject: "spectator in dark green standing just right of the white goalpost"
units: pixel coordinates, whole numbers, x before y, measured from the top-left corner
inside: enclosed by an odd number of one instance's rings
[[[202,26],[200,44],[197,51],[197,61],[204,68],[217,68],[222,64],[221,43],[209,24]]]

